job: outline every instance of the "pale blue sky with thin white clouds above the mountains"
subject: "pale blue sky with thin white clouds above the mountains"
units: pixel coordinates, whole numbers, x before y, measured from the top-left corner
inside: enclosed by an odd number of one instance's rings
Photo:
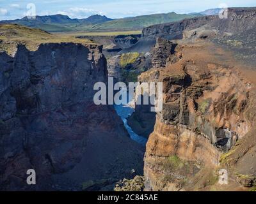
[[[0,20],[26,16],[27,5],[36,6],[36,15],[60,13],[71,18],[86,18],[100,14],[109,18],[123,18],[152,13],[190,13],[220,4],[230,7],[256,6],[255,0],[0,0]]]

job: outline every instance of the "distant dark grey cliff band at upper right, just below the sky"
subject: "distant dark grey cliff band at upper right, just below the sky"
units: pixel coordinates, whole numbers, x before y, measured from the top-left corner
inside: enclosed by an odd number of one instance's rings
[[[197,32],[214,31],[221,36],[227,36],[245,32],[255,27],[255,8],[228,8],[227,18],[218,16],[196,17],[173,22],[170,24],[151,25],[142,31],[143,38],[166,38],[168,40],[182,39],[184,31],[193,31],[192,36]]]

